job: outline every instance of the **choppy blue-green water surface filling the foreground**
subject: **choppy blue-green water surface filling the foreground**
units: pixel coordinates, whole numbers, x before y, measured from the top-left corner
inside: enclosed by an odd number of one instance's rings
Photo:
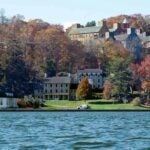
[[[0,150],[150,150],[150,112],[0,112]]]

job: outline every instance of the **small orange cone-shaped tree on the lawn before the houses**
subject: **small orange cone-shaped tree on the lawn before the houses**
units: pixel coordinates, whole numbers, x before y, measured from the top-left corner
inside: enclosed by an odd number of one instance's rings
[[[86,100],[92,96],[92,86],[89,84],[88,78],[81,80],[76,91],[77,100]]]

